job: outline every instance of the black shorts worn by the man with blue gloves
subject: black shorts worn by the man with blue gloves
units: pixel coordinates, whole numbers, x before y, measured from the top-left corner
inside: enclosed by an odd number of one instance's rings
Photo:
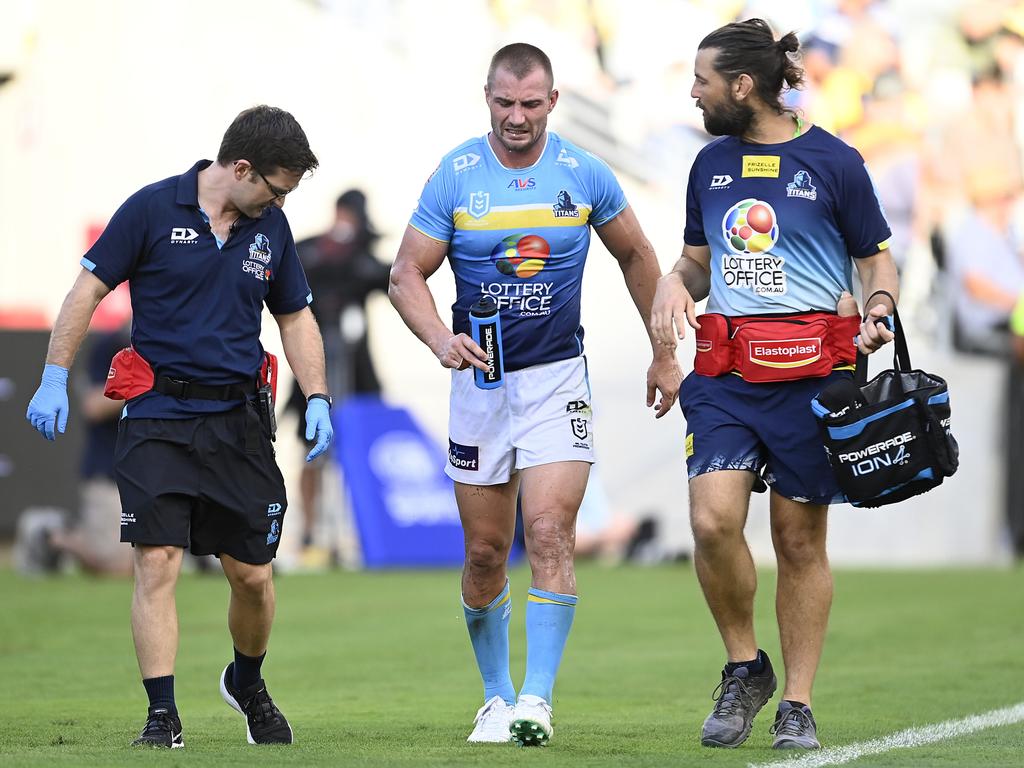
[[[285,480],[251,402],[189,419],[122,419],[115,477],[122,542],[254,565],[278,553]]]

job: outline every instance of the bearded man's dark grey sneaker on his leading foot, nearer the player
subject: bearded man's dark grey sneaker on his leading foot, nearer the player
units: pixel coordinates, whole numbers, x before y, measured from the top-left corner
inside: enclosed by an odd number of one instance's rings
[[[705,746],[739,746],[751,735],[754,716],[771,698],[776,686],[768,654],[759,652],[765,662],[760,675],[752,675],[746,667],[739,667],[731,675],[722,670],[722,682],[712,694],[715,709],[700,730]]]

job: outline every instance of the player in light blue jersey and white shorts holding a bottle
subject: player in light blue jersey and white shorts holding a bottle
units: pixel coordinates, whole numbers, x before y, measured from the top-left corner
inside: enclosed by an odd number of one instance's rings
[[[390,296],[410,330],[452,371],[447,474],[465,535],[462,602],[483,679],[470,741],[544,744],[555,677],[577,606],[577,512],[594,462],[580,291],[590,227],[617,260],[649,317],[660,270],[622,187],[593,155],[547,130],[558,101],[551,61],[515,43],[499,50],[484,97],[490,133],[446,155],[427,180],[391,269]],[[427,279],[444,261],[456,276],[453,329]],[[481,389],[486,356],[470,336],[469,308],[497,301],[502,386]],[[655,347],[647,404],[676,398],[673,349]],[[532,583],[526,602],[526,677],[509,674],[509,551],[521,494]]]

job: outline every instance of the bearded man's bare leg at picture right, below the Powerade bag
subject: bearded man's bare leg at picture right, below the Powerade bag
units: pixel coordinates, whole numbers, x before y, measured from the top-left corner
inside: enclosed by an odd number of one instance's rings
[[[775,613],[785,667],[782,697],[808,707],[831,607],[826,527],[826,506],[772,492],[771,534],[778,560]]]

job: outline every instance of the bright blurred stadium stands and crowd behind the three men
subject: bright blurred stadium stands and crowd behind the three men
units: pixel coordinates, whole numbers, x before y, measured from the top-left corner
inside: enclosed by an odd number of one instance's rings
[[[28,345],[0,362],[5,536],[20,508],[53,503],[45,475],[32,470],[52,462],[53,446],[33,442],[20,419],[42,364],[40,342],[26,341],[25,329],[45,332],[81,254],[121,202],[210,157],[239,111],[259,102],[288,109],[321,158],[321,169],[286,209],[297,240],[327,228],[337,194],[357,186],[384,236],[378,255],[390,259],[441,155],[487,129],[481,86],[489,54],[506,42],[529,40],[551,54],[562,93],[551,127],[610,162],[667,268],[682,245],[686,172],[707,139],[688,96],[696,44],[723,23],[757,14],[777,30],[796,30],[804,42],[808,84],[791,94],[792,103],[870,164],[903,269],[911,352],[919,366],[948,378],[963,447],[959,473],[926,497],[896,510],[836,509],[833,557],[839,564],[1011,559],[1008,502],[1022,501],[1008,499],[1007,467],[1017,455],[1010,437],[1020,440],[1022,433],[1008,429],[1008,357],[959,351],[952,329],[953,297],[967,290],[961,262],[977,262],[968,266],[981,273],[986,268],[985,253],[959,253],[961,222],[979,196],[1016,195],[1020,187],[1024,4],[2,0],[0,6],[6,180],[0,325],[7,329],[4,349]],[[446,267],[431,285],[444,314],[453,293]],[[1024,288],[1019,270],[997,275],[1000,287],[1004,294]],[[1006,304],[1005,295],[992,293],[985,300]],[[1009,312],[1001,305],[1000,311]],[[675,410],[655,423],[644,409],[643,331],[599,243],[588,265],[584,325],[607,503],[628,517],[654,517],[665,551],[685,552],[682,416]],[[446,374],[381,295],[371,301],[369,326],[386,399],[408,408],[443,443]],[[267,318],[264,327],[265,345],[276,350],[275,326]],[[689,345],[680,352],[687,368],[691,354]],[[73,407],[62,461],[74,463],[74,432],[81,427],[81,409]],[[293,433],[283,427],[280,451],[290,477],[300,457],[300,447],[289,444]],[[755,500],[751,538],[756,556],[770,561],[763,502]],[[286,555],[289,546],[286,536]]]

